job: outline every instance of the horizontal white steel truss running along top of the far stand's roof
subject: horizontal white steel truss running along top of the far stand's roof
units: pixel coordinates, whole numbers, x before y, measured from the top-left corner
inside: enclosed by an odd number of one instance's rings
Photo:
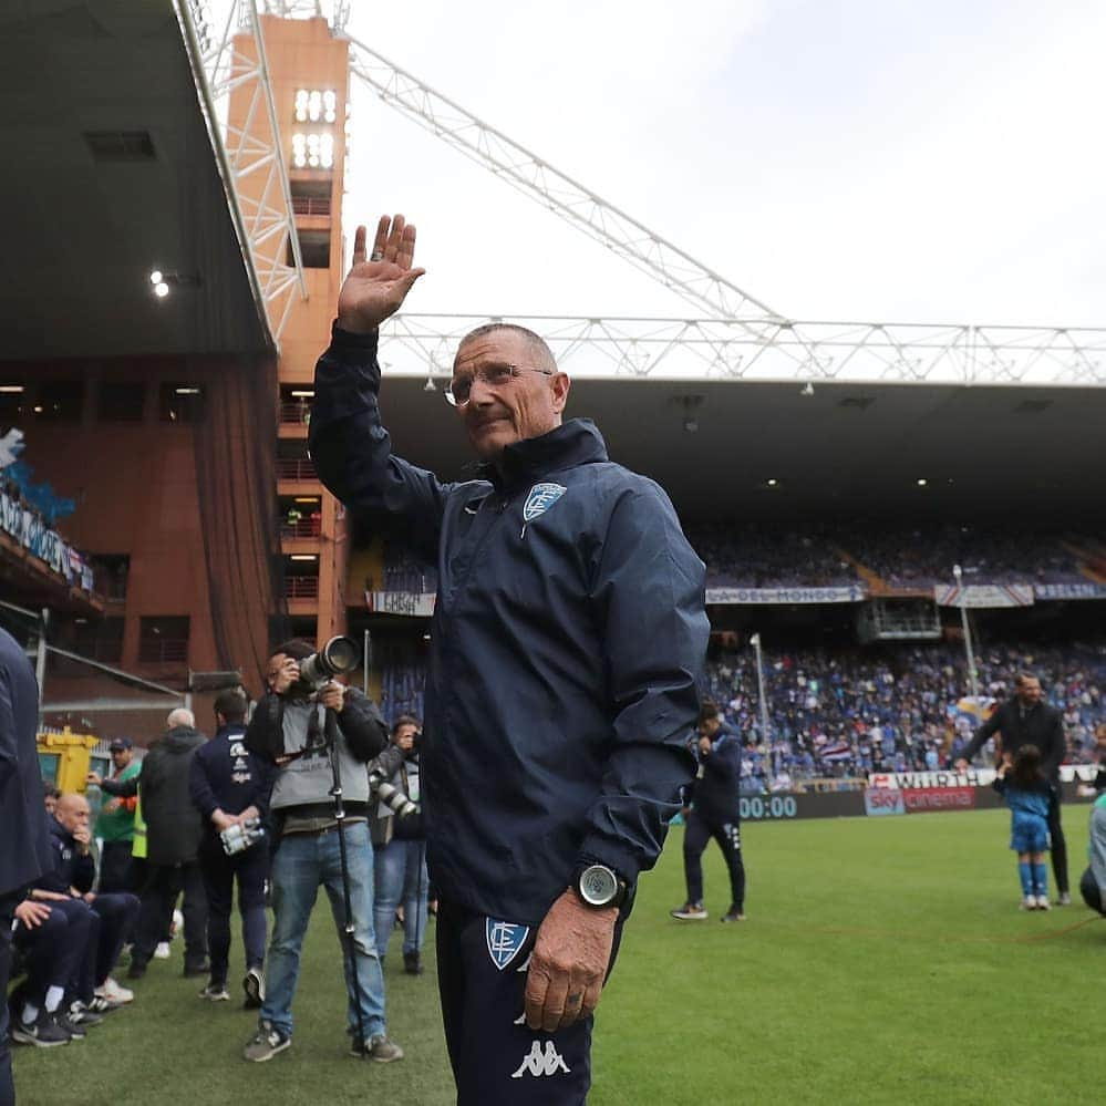
[[[381,328],[385,366],[447,376],[458,340],[484,316],[403,313]],[[717,319],[597,319],[511,316],[549,342],[580,375],[671,379],[1106,384],[1106,329],[781,323],[764,340]],[[802,341],[797,332],[802,331]]]

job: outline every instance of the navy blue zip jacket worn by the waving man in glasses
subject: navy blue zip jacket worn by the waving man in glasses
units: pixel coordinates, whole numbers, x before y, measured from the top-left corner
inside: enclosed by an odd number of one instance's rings
[[[392,454],[376,337],[337,327],[311,455],[437,559],[422,750],[427,854],[448,899],[541,921],[580,864],[631,886],[694,772],[684,738],[710,628],[704,568],[652,482],[572,420],[443,484]]]

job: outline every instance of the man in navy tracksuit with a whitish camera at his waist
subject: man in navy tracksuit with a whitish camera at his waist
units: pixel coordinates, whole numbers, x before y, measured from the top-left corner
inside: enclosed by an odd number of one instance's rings
[[[269,849],[262,838],[241,852],[228,856],[219,835],[269,809],[275,769],[246,747],[246,696],[224,691],[215,700],[215,736],[196,750],[189,769],[188,792],[204,819],[204,838],[197,857],[207,895],[207,952],[211,976],[200,998],[226,1001],[230,960],[230,906],[238,882],[238,912],[242,919],[246,1006],[257,1010],[265,998],[265,881]]]

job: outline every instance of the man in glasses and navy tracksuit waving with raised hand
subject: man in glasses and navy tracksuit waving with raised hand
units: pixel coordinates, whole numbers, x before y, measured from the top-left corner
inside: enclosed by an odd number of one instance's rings
[[[363,227],[316,370],[310,447],[351,511],[438,567],[422,783],[438,988],[462,1106],[571,1106],[592,1012],[694,756],[704,568],[668,496],[564,420],[533,331],[462,339],[446,397],[480,458],[444,484],[381,424],[379,324],[422,275]]]

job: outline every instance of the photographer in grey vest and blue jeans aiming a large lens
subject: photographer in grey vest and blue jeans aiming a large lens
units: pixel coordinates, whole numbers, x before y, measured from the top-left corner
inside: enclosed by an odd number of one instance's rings
[[[321,885],[330,898],[342,942],[353,1055],[387,1063],[401,1060],[403,1050],[385,1033],[384,980],[373,934],[373,855],[365,769],[385,746],[387,730],[376,707],[354,689],[334,682],[314,686],[301,679],[300,663],[313,653],[313,648],[302,640],[277,649],[269,659],[269,691],[258,702],[246,731],[246,747],[275,764],[277,772],[269,800],[275,823],[272,940],[260,1024],[244,1055],[260,1063],[291,1044],[300,951]],[[344,788],[343,826],[335,816],[331,752]],[[347,874],[352,957],[345,932]],[[358,1040],[361,1032],[364,1040]]]

